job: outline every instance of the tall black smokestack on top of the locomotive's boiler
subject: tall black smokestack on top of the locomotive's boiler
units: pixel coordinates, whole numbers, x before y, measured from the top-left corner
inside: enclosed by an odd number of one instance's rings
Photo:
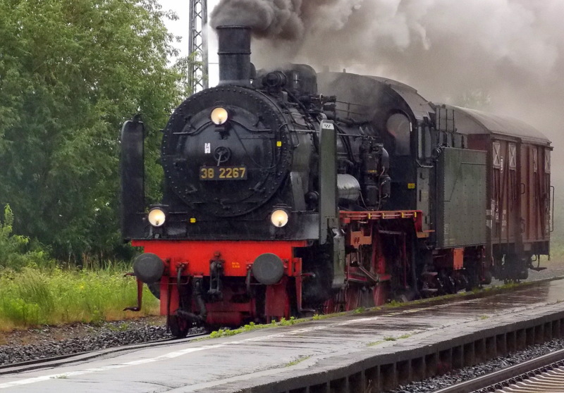
[[[219,85],[250,85],[251,28],[216,27],[219,41]]]

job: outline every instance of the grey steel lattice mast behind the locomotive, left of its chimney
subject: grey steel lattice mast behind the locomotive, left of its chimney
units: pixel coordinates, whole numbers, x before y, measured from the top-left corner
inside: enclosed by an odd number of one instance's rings
[[[190,0],[190,37],[188,46],[192,64],[190,82],[192,92],[207,89],[209,82],[207,37],[204,28],[207,25],[207,0]]]

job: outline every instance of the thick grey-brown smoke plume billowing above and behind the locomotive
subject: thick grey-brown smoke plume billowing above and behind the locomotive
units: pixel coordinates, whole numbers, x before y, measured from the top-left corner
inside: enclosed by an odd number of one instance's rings
[[[252,27],[259,67],[301,62],[390,77],[429,100],[525,120],[558,149],[560,15],[561,0],[221,0],[212,25]]]

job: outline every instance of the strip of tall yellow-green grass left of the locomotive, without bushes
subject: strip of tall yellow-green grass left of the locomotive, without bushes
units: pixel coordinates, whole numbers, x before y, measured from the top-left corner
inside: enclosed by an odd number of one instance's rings
[[[23,268],[0,272],[0,330],[63,323],[101,323],[158,313],[158,301],[145,289],[140,313],[137,284],[123,270]]]

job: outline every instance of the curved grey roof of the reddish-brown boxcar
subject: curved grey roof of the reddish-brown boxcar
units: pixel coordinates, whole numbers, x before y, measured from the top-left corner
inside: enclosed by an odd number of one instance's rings
[[[447,108],[454,110],[455,126],[462,134],[497,134],[528,139],[541,144],[551,144],[550,139],[542,132],[521,120],[475,109],[460,108],[460,106],[447,106]]]

